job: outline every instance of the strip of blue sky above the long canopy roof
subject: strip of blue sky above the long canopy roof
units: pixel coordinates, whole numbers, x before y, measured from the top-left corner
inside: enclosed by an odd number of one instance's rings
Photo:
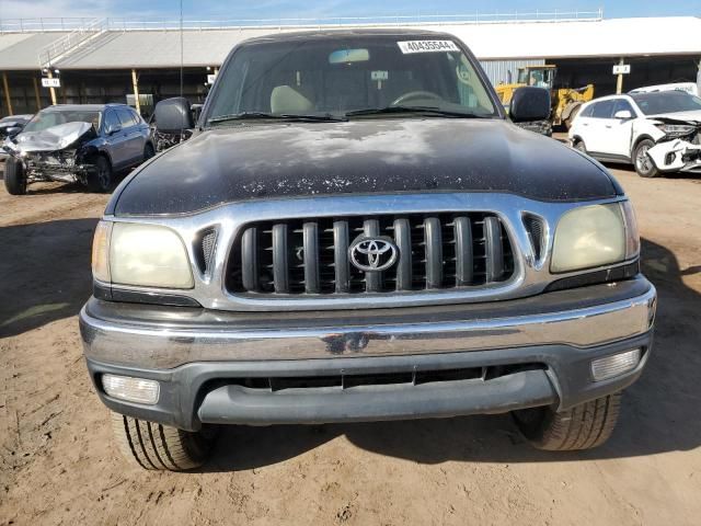
[[[606,18],[701,16],[701,0],[183,0],[185,16],[228,19],[380,16],[539,11],[596,11]],[[0,0],[0,19],[39,16],[176,16],[179,0]],[[701,38],[701,35],[699,36]]]

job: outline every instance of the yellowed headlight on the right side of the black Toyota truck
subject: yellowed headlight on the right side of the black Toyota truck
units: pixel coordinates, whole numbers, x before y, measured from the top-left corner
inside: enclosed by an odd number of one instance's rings
[[[567,211],[558,224],[550,262],[553,273],[594,268],[635,258],[640,238],[630,202]]]

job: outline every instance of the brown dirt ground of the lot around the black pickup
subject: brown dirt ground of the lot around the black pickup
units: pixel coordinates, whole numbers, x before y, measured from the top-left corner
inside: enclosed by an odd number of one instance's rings
[[[196,473],[127,467],[77,313],[105,196],[0,187],[0,524],[701,522],[701,179],[614,171],[659,290],[656,348],[599,449],[532,449],[508,415],[228,428]]]

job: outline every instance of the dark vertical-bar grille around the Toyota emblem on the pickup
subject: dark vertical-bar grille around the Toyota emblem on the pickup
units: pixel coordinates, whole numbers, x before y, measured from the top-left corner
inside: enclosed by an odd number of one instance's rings
[[[393,240],[397,263],[382,272],[358,270],[348,247],[361,236]],[[512,245],[493,214],[304,218],[244,225],[226,286],[257,297],[420,293],[484,287],[513,273]]]

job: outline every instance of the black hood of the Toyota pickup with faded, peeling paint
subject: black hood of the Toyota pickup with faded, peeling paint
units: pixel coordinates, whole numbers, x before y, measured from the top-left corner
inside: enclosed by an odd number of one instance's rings
[[[397,192],[541,201],[622,193],[566,146],[499,119],[261,123],[203,132],[124,181],[107,214],[187,214],[229,202]]]

